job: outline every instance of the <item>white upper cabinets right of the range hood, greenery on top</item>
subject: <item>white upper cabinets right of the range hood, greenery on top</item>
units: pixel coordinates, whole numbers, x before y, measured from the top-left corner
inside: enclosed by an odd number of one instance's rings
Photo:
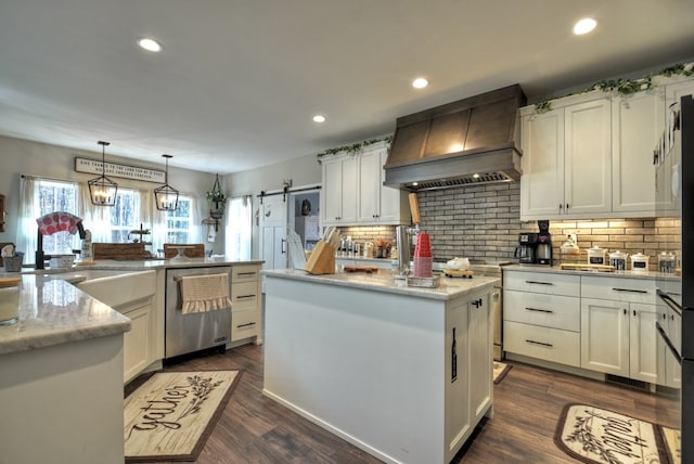
[[[670,180],[666,170],[656,179],[653,151],[669,105],[693,92],[694,80],[668,80],[626,96],[557,99],[542,114],[522,108],[520,219],[655,216],[656,189],[667,202]]]

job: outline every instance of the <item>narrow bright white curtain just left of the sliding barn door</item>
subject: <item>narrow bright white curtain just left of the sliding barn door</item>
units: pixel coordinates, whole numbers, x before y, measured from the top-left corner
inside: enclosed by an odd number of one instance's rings
[[[224,248],[232,261],[250,259],[253,233],[253,197],[250,195],[229,198],[227,204],[227,234]]]

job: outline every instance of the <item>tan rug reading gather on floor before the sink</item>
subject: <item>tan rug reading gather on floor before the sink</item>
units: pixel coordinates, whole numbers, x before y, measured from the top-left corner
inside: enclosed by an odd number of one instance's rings
[[[127,463],[195,461],[242,372],[157,372],[125,400]]]

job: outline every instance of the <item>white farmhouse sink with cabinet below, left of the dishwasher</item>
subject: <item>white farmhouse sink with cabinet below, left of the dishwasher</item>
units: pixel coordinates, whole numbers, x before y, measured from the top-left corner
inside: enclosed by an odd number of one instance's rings
[[[76,286],[132,321],[123,338],[126,383],[160,359],[157,344],[164,330],[157,323],[156,271],[87,280]]]

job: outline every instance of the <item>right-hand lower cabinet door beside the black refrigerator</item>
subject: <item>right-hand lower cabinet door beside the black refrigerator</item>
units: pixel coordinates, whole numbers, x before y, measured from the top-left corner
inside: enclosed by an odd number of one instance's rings
[[[658,356],[664,355],[661,345],[658,349],[656,307],[632,302],[629,312],[629,377],[652,384],[663,383],[663,377],[658,378]]]

